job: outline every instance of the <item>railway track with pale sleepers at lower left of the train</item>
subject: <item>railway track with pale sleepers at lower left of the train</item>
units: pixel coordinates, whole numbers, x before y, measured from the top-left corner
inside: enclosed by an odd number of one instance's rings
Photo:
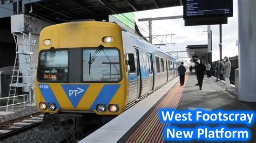
[[[11,137],[32,127],[38,126],[43,120],[43,112],[32,113],[0,123],[0,139]]]

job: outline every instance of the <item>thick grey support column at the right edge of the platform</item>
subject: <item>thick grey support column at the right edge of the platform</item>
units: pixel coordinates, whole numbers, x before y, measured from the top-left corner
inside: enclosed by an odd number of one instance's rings
[[[238,1],[239,100],[256,102],[256,1]]]

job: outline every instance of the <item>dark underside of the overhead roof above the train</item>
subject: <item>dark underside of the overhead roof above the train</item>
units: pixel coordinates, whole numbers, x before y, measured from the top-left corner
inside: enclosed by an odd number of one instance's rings
[[[52,0],[30,2],[25,4],[25,13],[55,23],[70,22],[76,19],[101,21],[107,20],[109,15],[119,13],[182,5],[182,0]]]

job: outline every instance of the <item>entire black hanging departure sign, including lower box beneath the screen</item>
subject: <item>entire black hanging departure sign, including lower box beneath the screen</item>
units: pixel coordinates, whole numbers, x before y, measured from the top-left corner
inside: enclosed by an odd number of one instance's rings
[[[227,24],[233,0],[183,0],[185,26]]]

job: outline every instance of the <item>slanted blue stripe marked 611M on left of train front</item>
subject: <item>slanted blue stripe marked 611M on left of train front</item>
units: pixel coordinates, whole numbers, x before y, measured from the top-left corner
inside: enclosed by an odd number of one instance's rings
[[[58,100],[56,99],[55,95],[53,94],[51,87],[49,84],[37,84],[38,88],[40,89],[45,102],[46,103],[55,103],[57,109],[61,109]]]

